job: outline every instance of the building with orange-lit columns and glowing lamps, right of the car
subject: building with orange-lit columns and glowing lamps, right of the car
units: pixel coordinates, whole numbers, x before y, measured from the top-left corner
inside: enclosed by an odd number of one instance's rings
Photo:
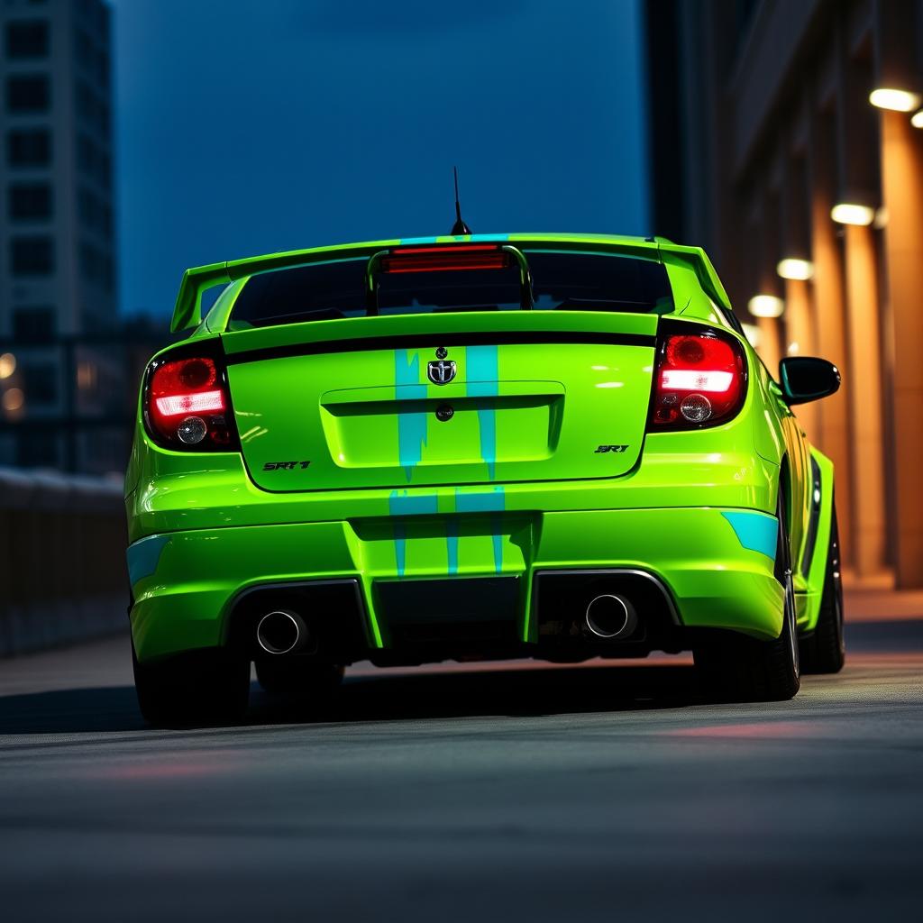
[[[845,565],[923,587],[923,2],[646,0],[653,228],[705,246],[837,472]]]

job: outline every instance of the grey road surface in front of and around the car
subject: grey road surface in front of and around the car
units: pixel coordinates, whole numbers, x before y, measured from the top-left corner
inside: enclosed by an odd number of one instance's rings
[[[912,919],[923,622],[795,701],[685,661],[354,671],[294,721],[142,725],[126,641],[0,663],[0,918]]]

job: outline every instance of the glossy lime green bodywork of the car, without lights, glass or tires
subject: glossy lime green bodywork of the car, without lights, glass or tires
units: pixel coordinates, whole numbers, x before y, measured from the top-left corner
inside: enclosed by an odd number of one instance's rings
[[[132,543],[159,536],[156,567],[135,581],[132,628],[142,660],[224,640],[234,597],[265,582],[355,577],[366,637],[388,647],[376,581],[515,574],[524,587],[523,642],[536,641],[531,576],[540,569],[645,569],[689,626],[755,637],[781,630],[773,559],[741,544],[724,512],[772,516],[780,478],[791,501],[799,625],[816,624],[830,534],[833,471],[820,453],[824,499],[808,577],[804,486],[809,447],[749,344],[743,409],[724,426],[644,433],[653,348],[587,342],[489,345],[491,333],[653,335],[657,315],[503,311],[344,318],[228,330],[252,272],[407,243],[497,240],[602,249],[665,264],[669,317],[737,334],[718,310],[726,294],[702,251],[661,239],[576,234],[472,235],[325,247],[189,270],[174,329],[220,338],[231,357],[253,350],[431,335],[432,349],[365,349],[239,362],[228,375],[243,452],[154,446],[140,422],[126,473]],[[204,320],[203,292],[226,288]],[[438,387],[426,363],[445,335],[459,376]],[[740,339],[739,337],[737,338]],[[438,422],[434,410],[456,410]],[[625,445],[596,453],[601,444]],[[294,471],[266,462],[309,461]],[[829,492],[829,493],[828,493]]]

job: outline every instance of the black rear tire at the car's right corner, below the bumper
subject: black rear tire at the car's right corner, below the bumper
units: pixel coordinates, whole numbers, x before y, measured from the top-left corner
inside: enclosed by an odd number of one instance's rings
[[[695,650],[696,670],[710,699],[785,701],[793,698],[801,685],[791,550],[781,491],[776,515],[779,537],[775,575],[785,590],[782,632],[774,641],[756,641],[737,635]]]

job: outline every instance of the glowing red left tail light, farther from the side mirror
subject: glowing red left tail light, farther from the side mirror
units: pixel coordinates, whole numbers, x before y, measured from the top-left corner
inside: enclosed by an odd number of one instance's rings
[[[239,446],[224,369],[211,356],[155,360],[143,407],[150,438],[164,448],[219,452]]]

